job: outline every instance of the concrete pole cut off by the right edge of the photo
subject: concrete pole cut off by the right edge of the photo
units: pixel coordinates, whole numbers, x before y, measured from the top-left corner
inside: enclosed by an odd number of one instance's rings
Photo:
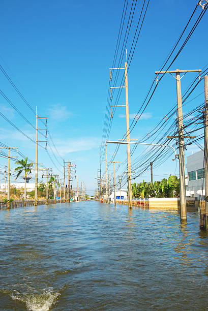
[[[208,76],[204,76],[204,96],[205,96],[205,109],[204,109],[204,128],[205,128],[205,206],[201,205],[200,210],[200,229],[208,230]],[[204,176],[203,176],[204,177]],[[203,189],[202,189],[203,195]]]

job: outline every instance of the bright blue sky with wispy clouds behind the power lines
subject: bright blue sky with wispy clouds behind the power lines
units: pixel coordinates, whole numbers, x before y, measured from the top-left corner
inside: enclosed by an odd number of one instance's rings
[[[133,25],[136,25],[142,1],[138,1]],[[150,1],[141,35],[133,56],[129,79],[129,111],[132,117],[139,109],[154,72],[181,34],[196,1]],[[109,82],[123,1],[2,1],[0,64],[38,114],[48,117],[53,141],[65,159],[75,160],[79,180],[93,194],[94,179],[99,168],[99,144],[102,139]],[[198,10],[201,10],[198,8]],[[171,69],[202,69],[207,63],[207,15],[177,58]],[[135,29],[132,27],[132,29]],[[129,46],[133,31],[130,33]],[[123,59],[125,61],[125,59]],[[182,80],[182,92],[195,77],[187,74]],[[16,94],[0,73],[1,89],[24,116],[35,125],[34,114]],[[192,97],[203,91],[203,83]],[[190,98],[191,99],[191,98]],[[124,101],[124,97],[121,98]],[[163,78],[144,116],[137,122],[132,138],[146,134],[165,116],[176,102],[175,80]],[[188,112],[203,102],[203,95],[184,108]],[[27,135],[35,138],[34,129],[14,109],[0,98],[1,112]],[[110,139],[122,138],[125,133],[124,108],[117,109],[113,118]],[[1,118],[0,141],[19,149],[35,159],[35,144],[14,130]],[[43,139],[44,140],[44,139]],[[143,150],[138,147],[137,152]],[[191,146],[187,155],[198,150]],[[61,175],[62,159],[56,154],[54,167],[44,149],[39,148],[39,162]],[[48,149],[50,152],[50,149]],[[54,153],[56,151],[54,150]],[[113,154],[113,146],[109,149]],[[138,156],[137,154],[137,156]],[[115,161],[124,161],[126,149],[118,152]],[[1,158],[1,165],[5,159]],[[12,164],[12,169],[14,169]],[[104,165],[102,165],[104,170]],[[175,163],[167,160],[154,171],[155,175],[174,173]],[[176,169],[176,173],[178,167]],[[148,176],[146,172],[143,176]],[[148,177],[140,176],[136,181]],[[3,176],[2,176],[3,178]],[[155,178],[155,179],[160,179]],[[75,183],[74,183],[75,184]]]

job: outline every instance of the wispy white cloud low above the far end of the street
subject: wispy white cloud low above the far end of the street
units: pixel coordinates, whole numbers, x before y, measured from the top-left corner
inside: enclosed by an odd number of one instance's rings
[[[66,155],[70,152],[84,151],[97,148],[100,144],[101,139],[98,137],[82,137],[73,140],[56,140],[55,145],[57,150],[62,154]]]

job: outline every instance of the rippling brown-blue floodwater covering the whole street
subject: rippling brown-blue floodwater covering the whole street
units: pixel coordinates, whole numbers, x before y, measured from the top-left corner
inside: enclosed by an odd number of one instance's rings
[[[0,211],[0,310],[206,310],[199,215],[73,202]]]

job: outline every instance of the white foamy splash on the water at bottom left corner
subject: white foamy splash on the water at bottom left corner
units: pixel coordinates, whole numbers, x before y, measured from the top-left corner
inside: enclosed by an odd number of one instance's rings
[[[60,292],[54,292],[52,288],[43,289],[41,293],[19,293],[10,292],[13,300],[19,300],[26,305],[30,311],[47,311],[55,303]]]

